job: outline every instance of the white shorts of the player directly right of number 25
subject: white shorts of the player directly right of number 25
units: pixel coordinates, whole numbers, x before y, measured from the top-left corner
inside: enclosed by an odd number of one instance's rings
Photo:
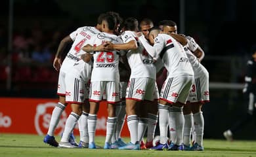
[[[126,90],[126,99],[154,100],[156,80],[152,78],[132,78],[129,80]]]

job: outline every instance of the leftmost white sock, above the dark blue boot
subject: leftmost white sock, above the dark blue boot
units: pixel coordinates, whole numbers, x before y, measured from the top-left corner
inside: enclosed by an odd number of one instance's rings
[[[54,107],[53,113],[51,116],[51,121],[49,124],[49,129],[47,132],[48,135],[50,135],[50,136],[54,135],[55,128],[58,125],[58,122],[60,121],[60,116],[61,116],[62,112],[65,110],[65,108],[66,108],[66,106],[60,102],[58,102],[56,107]]]

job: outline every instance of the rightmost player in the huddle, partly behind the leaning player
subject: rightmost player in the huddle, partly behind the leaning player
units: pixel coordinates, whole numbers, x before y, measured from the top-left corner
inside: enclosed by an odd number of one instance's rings
[[[177,24],[171,20],[164,20],[163,33],[173,35],[177,33]],[[184,36],[184,35],[182,35]],[[182,41],[183,37],[179,35],[173,36],[178,41]],[[202,105],[209,102],[209,73],[200,63],[204,57],[202,48],[194,41],[192,37],[184,36],[188,41],[184,46],[184,50],[192,65],[194,71],[194,82],[188,96],[188,101],[183,108],[184,114],[184,150],[203,150],[203,114]],[[171,109],[170,114],[175,116],[175,110]],[[194,123],[194,126],[193,126]],[[173,126],[173,124],[171,124]],[[175,125],[174,125],[175,126]],[[196,137],[194,145],[190,147],[190,136],[194,127]],[[173,127],[172,127],[173,128]],[[171,128],[171,129],[172,129]],[[175,130],[175,129],[174,129]],[[170,130],[171,131],[171,130]],[[173,133],[171,133],[173,134]],[[175,136],[174,136],[175,137]],[[171,137],[173,138],[173,137]],[[175,141],[175,139],[173,139]]]

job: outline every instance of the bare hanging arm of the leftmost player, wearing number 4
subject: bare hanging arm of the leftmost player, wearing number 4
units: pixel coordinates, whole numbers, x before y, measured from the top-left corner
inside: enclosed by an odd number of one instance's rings
[[[73,43],[73,40],[71,39],[70,35],[64,37],[62,41],[60,41],[60,44],[58,45],[58,50],[55,54],[55,58],[53,61],[53,67],[56,69],[56,71],[60,70],[60,66],[62,64],[61,56],[66,48],[66,46],[70,43]]]

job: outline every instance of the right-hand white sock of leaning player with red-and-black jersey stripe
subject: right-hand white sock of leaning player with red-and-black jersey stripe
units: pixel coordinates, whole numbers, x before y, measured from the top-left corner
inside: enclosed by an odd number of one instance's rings
[[[183,131],[184,131],[184,116],[183,116],[183,107],[173,106],[174,111],[174,120],[176,126],[176,145],[181,145],[183,143]]]

